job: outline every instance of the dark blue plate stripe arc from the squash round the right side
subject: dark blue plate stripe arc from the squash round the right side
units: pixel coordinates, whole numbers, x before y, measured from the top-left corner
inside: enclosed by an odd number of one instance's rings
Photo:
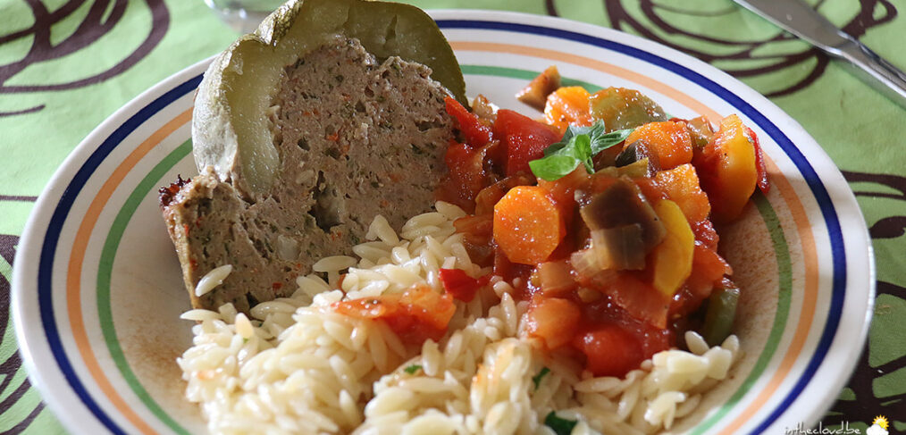
[[[843,233],[840,231],[840,221],[837,218],[836,210],[834,210],[834,203],[831,201],[831,197],[828,195],[827,189],[824,188],[821,179],[818,178],[818,174],[815,173],[814,168],[812,168],[811,163],[809,163],[808,160],[805,160],[805,156],[803,156],[802,152],[795,147],[795,144],[789,140],[789,138],[786,137],[786,134],[780,131],[773,122],[768,121],[765,115],[761,114],[761,112],[757,111],[746,101],[739,98],[735,93],[729,92],[727,88],[724,88],[716,82],[712,82],[707,77],[696,73],[679,63],[674,63],[656,54],[648,53],[638,48],[631,47],[630,45],[616,43],[600,37],[579,34],[568,30],[554,29],[541,25],[475,20],[438,20],[438,25],[441,28],[446,29],[487,29],[522,34],[541,34],[579,43],[587,43],[614,52],[623,53],[641,59],[647,63],[653,63],[660,68],[676,73],[691,82],[699,84],[699,86],[714,93],[725,102],[728,102],[730,105],[737,108],[737,110],[745,113],[749,119],[755,121],[762,130],[766,131],[768,136],[775,140],[777,144],[780,145],[780,148],[786,152],[786,155],[793,160],[796,168],[802,172],[803,176],[805,176],[805,181],[808,183],[809,189],[812,190],[814,198],[818,201],[822,215],[824,215],[824,223],[827,226],[828,235],[831,240],[831,255],[834,264],[834,285],[831,295],[831,309],[828,313],[827,323],[824,324],[824,331],[821,334],[818,347],[815,350],[814,355],[812,355],[812,359],[808,362],[808,366],[806,366],[803,376],[795,383],[793,390],[790,391],[780,405],[777,406],[774,411],[771,411],[770,415],[759,423],[757,428],[750,433],[754,434],[765,431],[774,420],[777,420],[777,418],[789,408],[789,405],[802,393],[805,386],[812,381],[814,372],[818,370],[821,362],[824,361],[824,356],[827,355],[827,351],[834,341],[834,335],[837,332],[837,327],[840,324],[840,317],[843,313],[843,298],[846,295],[846,253],[844,252],[843,247]]]

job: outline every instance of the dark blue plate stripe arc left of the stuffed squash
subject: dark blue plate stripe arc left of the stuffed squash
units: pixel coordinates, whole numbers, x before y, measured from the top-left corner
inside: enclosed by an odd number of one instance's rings
[[[63,344],[60,342],[60,333],[57,331],[56,320],[53,316],[53,295],[51,287],[51,277],[53,276],[53,256],[56,253],[57,243],[59,242],[60,233],[63,229],[63,223],[72,209],[72,204],[79,196],[79,192],[85,186],[85,183],[92,177],[94,170],[101,165],[101,162],[110,155],[111,151],[120,145],[132,131],[135,131],[144,121],[147,121],[155,113],[167,107],[169,103],[175,102],[178,98],[198,88],[201,82],[201,75],[195,76],[186,82],[178,85],[176,88],[169,90],[147,106],[141,108],[138,113],[132,115],[129,120],[123,122],[115,131],[111,133],[98,147],[92,152],[92,155],[85,161],[72,177],[69,186],[63,191],[63,197],[57,203],[53,210],[50,224],[47,228],[47,234],[44,237],[43,247],[41,249],[41,258],[38,264],[38,304],[41,310],[41,323],[43,324],[44,333],[47,335],[47,342],[50,344],[53,357],[56,359],[60,370],[66,377],[66,381],[72,386],[72,390],[78,394],[85,406],[101,420],[104,426],[116,434],[126,434],[119,425],[114,422],[110,416],[101,410],[97,402],[82,385],[82,381],[72,370],[72,363],[66,357],[63,350]]]

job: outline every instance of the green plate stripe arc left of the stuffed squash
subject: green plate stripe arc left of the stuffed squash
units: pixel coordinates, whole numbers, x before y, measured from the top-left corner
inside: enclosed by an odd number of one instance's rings
[[[176,150],[172,150],[167,157],[160,160],[157,166],[155,166],[154,169],[151,169],[149,174],[141,180],[134,190],[132,190],[129,198],[126,198],[126,202],[123,204],[122,208],[120,208],[120,212],[117,213],[116,218],[113,220],[110,233],[107,234],[107,239],[104,240],[104,247],[103,250],[101,250],[101,264],[98,266],[97,290],[98,315],[101,320],[101,331],[104,334],[104,342],[107,343],[107,348],[110,350],[113,362],[116,363],[117,368],[120,369],[120,374],[122,374],[123,379],[129,384],[132,391],[139,396],[141,402],[148,407],[149,411],[167,424],[171,430],[181,435],[190,434],[188,430],[179,426],[179,423],[176,422],[176,420],[173,420],[173,418],[160,407],[158,402],[154,401],[148,391],[145,390],[145,387],[141,385],[141,382],[135,376],[135,373],[132,372],[129,362],[126,361],[125,354],[122,353],[120,341],[117,339],[116,330],[113,326],[113,312],[111,310],[111,273],[113,269],[113,260],[116,257],[117,249],[120,247],[120,240],[122,239],[123,232],[126,231],[126,226],[129,225],[129,221],[132,218],[132,215],[135,214],[135,210],[139,208],[141,200],[148,195],[148,192],[157,188],[160,179],[167,174],[169,169],[176,166],[179,160],[188,156],[188,153],[190,152],[192,152],[192,140],[186,140],[182,145],[179,145]]]

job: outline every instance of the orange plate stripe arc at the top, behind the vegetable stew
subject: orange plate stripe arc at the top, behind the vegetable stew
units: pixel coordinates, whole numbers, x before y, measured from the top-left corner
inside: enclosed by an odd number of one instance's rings
[[[717,111],[713,111],[711,108],[705,104],[699,102],[698,100],[690,97],[688,94],[679,92],[678,90],[671,88],[669,85],[658,82],[651,77],[642,75],[640,73],[635,73],[626,68],[614,65],[612,63],[601,62],[597,59],[592,59],[590,57],[584,57],[577,54],[571,53],[561,53],[554,50],[545,50],[543,48],[537,47],[526,47],[524,45],[514,45],[509,43],[473,43],[473,42],[450,42],[450,45],[453,47],[453,50],[456,52],[460,51],[470,51],[470,52],[492,52],[492,53],[511,53],[511,54],[520,54],[530,57],[540,57],[543,59],[548,59],[555,62],[565,62],[573,63],[575,65],[584,66],[602,73],[608,73],[615,75],[622,79],[626,79],[631,82],[636,82],[642,86],[651,89],[651,91],[659,92],[662,95],[666,95],[671,100],[679,102],[682,105],[688,107],[690,110],[695,111],[701,115],[705,115],[711,121],[719,121],[722,116]]]

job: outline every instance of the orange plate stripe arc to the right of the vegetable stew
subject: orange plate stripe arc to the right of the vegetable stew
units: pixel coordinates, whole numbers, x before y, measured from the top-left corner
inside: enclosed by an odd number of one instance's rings
[[[799,235],[799,245],[802,247],[803,259],[805,260],[805,295],[803,295],[802,309],[799,311],[793,339],[786,348],[786,354],[777,366],[777,371],[767,382],[765,389],[759,392],[754,400],[749,402],[747,408],[739,413],[737,418],[731,421],[726,428],[721,430],[723,433],[734,433],[739,430],[747,420],[752,419],[757,411],[765,406],[771,395],[780,388],[780,384],[793,369],[795,360],[799,357],[803,347],[805,347],[805,340],[808,338],[809,330],[814,322],[815,304],[818,300],[818,256],[814,247],[814,235],[811,231],[811,225],[809,224],[808,216],[805,214],[805,207],[803,207],[799,197],[795,194],[793,185],[777,169],[774,160],[770,160],[765,156],[765,164],[768,173],[771,174],[772,184],[779,190],[780,196],[784,198],[786,205],[789,207],[790,214],[795,222],[796,232]]]

